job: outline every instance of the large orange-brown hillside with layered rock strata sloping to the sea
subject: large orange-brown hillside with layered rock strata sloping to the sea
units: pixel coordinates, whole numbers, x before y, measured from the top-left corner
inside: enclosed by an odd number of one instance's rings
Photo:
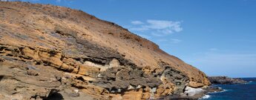
[[[157,99],[209,85],[197,68],[80,10],[0,1],[0,99]]]

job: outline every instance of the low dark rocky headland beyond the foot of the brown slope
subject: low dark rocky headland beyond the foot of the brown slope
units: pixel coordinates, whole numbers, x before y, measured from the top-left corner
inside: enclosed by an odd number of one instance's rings
[[[208,79],[211,81],[211,84],[243,84],[247,82],[243,79],[234,79],[227,76],[211,76]]]

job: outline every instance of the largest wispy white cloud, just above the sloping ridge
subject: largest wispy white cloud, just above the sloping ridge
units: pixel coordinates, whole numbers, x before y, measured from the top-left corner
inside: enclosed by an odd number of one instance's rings
[[[130,30],[134,31],[151,31],[153,35],[161,34],[159,36],[168,35],[170,33],[179,33],[183,30],[181,27],[182,21],[165,21],[165,20],[147,20],[131,21],[131,24],[140,24],[140,27],[131,27]]]

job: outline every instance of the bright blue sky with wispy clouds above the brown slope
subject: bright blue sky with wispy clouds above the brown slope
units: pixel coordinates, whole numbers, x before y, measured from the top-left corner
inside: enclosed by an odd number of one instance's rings
[[[83,10],[208,76],[256,77],[256,0],[23,0]]]

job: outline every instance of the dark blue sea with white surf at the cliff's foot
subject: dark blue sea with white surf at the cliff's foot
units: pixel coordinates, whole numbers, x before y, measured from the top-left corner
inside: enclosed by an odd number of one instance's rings
[[[204,100],[256,100],[256,78],[243,78],[246,84],[214,84],[223,89],[222,92],[208,93]]]

